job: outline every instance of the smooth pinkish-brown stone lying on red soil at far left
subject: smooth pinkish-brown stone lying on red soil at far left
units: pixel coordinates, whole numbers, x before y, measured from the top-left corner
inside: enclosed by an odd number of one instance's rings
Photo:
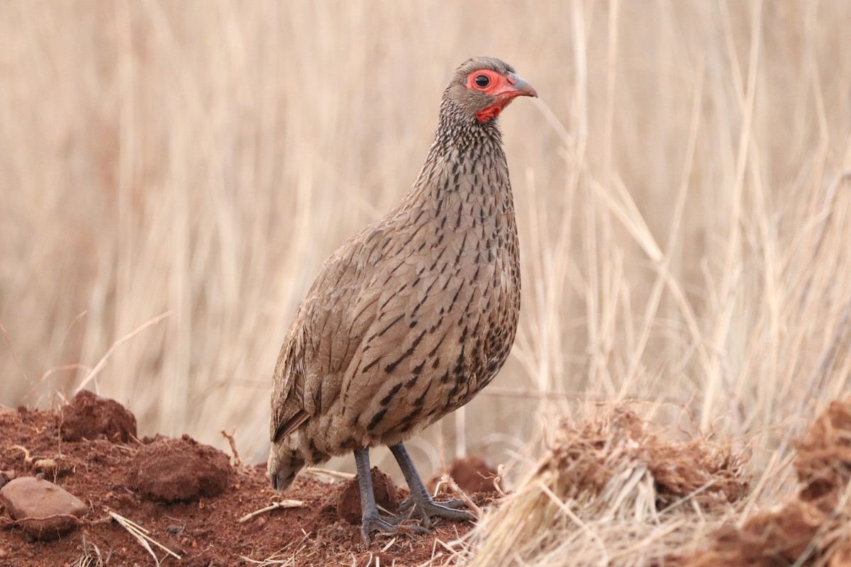
[[[77,527],[89,511],[83,501],[49,480],[26,476],[0,489],[12,519],[38,540],[52,540]]]

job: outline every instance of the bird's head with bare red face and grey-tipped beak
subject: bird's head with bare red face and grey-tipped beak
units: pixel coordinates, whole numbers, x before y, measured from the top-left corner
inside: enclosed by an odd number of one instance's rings
[[[490,122],[518,96],[534,96],[534,87],[511,65],[494,57],[474,57],[455,70],[444,97],[470,118]]]

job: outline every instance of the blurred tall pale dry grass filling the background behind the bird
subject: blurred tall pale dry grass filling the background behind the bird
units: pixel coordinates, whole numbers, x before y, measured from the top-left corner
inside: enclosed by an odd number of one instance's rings
[[[142,434],[235,428],[264,461],[300,298],[489,54],[540,94],[500,117],[521,329],[418,460],[508,462],[557,412],[633,400],[751,446],[774,490],[851,373],[849,22],[843,0],[6,0],[0,404],[84,385]]]

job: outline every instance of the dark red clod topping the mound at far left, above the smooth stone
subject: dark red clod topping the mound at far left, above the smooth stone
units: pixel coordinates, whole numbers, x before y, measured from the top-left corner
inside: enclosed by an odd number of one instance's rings
[[[83,390],[62,408],[56,423],[62,440],[109,439],[127,443],[136,437],[136,417],[115,400]]]

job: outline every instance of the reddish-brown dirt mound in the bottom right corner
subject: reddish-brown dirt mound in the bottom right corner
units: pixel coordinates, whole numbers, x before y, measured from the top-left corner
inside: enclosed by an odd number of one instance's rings
[[[709,565],[851,564],[851,398],[834,401],[797,442],[795,498],[719,530],[709,549],[687,558]]]

